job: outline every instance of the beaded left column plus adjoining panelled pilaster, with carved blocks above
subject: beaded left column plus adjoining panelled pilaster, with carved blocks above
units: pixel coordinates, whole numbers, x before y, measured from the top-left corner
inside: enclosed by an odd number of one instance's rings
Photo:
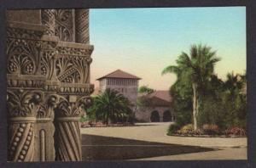
[[[15,22],[9,23],[7,35],[8,160],[53,161],[53,97],[49,95],[59,85],[54,68],[58,40],[44,35],[42,25]]]

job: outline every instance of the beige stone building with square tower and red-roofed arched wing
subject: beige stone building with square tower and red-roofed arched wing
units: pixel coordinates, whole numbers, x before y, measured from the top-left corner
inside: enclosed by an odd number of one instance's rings
[[[138,95],[138,82],[141,78],[131,75],[123,70],[115,70],[97,80],[100,82],[97,94],[107,88],[116,90],[134,105],[134,113],[137,120],[145,122],[174,121],[175,116],[171,111],[172,97],[169,91],[154,91],[150,94]],[[137,97],[144,97],[150,101],[147,107],[137,105]]]

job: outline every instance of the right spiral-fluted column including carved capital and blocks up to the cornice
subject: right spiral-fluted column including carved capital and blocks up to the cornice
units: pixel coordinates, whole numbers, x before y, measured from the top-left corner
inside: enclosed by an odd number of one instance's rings
[[[90,45],[60,42],[56,60],[61,96],[55,109],[56,160],[82,160],[79,118],[90,103]]]

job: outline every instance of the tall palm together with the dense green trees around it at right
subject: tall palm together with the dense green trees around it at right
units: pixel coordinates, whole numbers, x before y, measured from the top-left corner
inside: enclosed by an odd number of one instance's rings
[[[219,60],[211,48],[193,45],[190,55],[182,53],[177,65],[162,71],[162,74],[177,76],[170,92],[178,126],[193,123],[195,130],[206,124],[216,125],[221,130],[230,126],[246,128],[246,75],[232,72],[225,81],[219,79],[214,74],[214,65]]]

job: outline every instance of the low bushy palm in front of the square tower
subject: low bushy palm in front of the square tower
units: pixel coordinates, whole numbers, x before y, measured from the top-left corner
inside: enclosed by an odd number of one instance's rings
[[[98,95],[93,103],[96,119],[103,120],[107,126],[109,120],[111,122],[117,122],[131,115],[130,107],[131,103],[128,98],[109,88]]]

